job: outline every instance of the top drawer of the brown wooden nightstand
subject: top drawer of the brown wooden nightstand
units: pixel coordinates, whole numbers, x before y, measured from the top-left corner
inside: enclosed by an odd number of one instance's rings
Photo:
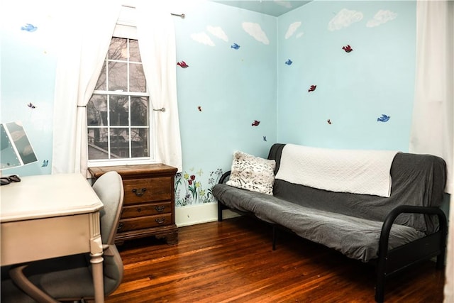
[[[172,199],[173,177],[123,180],[124,205]]]

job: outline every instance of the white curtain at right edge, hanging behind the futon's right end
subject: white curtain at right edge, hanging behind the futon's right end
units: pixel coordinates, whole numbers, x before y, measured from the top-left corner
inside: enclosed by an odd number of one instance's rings
[[[454,1],[417,1],[416,90],[410,152],[438,155],[454,192]]]

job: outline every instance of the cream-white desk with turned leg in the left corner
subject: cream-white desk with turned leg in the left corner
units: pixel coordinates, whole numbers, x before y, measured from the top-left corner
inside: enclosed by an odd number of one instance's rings
[[[104,302],[101,200],[78,173],[21,179],[0,187],[1,265],[90,253],[95,301]]]

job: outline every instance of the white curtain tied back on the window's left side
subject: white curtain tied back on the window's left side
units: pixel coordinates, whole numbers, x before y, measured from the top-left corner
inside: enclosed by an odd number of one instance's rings
[[[121,9],[116,1],[63,1],[55,77],[52,173],[87,175],[87,109]]]

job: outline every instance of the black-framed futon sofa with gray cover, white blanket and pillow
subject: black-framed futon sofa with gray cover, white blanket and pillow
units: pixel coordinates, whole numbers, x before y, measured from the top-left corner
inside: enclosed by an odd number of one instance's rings
[[[330,150],[274,144],[267,159],[236,152],[213,188],[223,209],[250,214],[348,258],[375,263],[375,300],[409,265],[445,262],[445,161],[388,150]]]

